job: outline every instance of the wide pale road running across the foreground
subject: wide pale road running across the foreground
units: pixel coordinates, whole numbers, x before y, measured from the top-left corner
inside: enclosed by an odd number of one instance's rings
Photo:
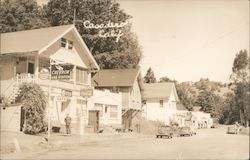
[[[152,136],[81,144],[25,159],[249,159],[249,136],[229,135],[225,131],[225,127],[201,129],[192,137]]]

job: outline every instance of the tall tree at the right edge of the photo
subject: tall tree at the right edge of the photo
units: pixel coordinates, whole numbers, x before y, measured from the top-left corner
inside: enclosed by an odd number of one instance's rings
[[[233,62],[231,80],[235,94],[235,105],[238,107],[240,121],[248,126],[250,121],[250,58],[247,50],[240,50]]]

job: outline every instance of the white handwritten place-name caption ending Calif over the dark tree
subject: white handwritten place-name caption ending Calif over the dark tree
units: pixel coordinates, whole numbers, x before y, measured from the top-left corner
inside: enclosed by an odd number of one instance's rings
[[[88,28],[88,29],[101,29],[99,31],[99,37],[102,37],[102,38],[115,37],[116,42],[118,42],[121,36],[123,36],[123,32],[120,28],[128,25],[128,20],[126,20],[125,22],[120,22],[120,23],[114,23],[109,20],[108,23],[106,24],[103,24],[103,23],[94,24],[87,20],[83,22],[83,25],[85,28]],[[109,32],[106,32],[104,29],[107,29],[107,28],[111,28],[111,30],[109,30]]]

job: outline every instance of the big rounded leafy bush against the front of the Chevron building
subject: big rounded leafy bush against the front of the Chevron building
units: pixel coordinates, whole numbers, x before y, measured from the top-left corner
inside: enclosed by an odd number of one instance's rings
[[[44,130],[46,97],[38,84],[25,83],[20,87],[17,101],[25,110],[24,133],[37,134]]]

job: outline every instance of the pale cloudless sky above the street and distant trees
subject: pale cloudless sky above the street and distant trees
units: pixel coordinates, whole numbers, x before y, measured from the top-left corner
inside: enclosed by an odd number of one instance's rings
[[[142,75],[226,82],[236,53],[249,51],[248,0],[117,0],[133,16]]]

